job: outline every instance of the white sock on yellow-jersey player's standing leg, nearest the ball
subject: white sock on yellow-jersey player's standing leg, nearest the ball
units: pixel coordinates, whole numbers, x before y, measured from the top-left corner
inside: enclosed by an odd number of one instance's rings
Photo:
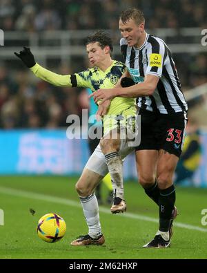
[[[101,224],[99,222],[99,205],[95,194],[90,196],[81,197],[79,196],[81,205],[83,207],[83,214],[86,218],[88,225],[88,234],[92,238],[99,237],[101,232]]]

